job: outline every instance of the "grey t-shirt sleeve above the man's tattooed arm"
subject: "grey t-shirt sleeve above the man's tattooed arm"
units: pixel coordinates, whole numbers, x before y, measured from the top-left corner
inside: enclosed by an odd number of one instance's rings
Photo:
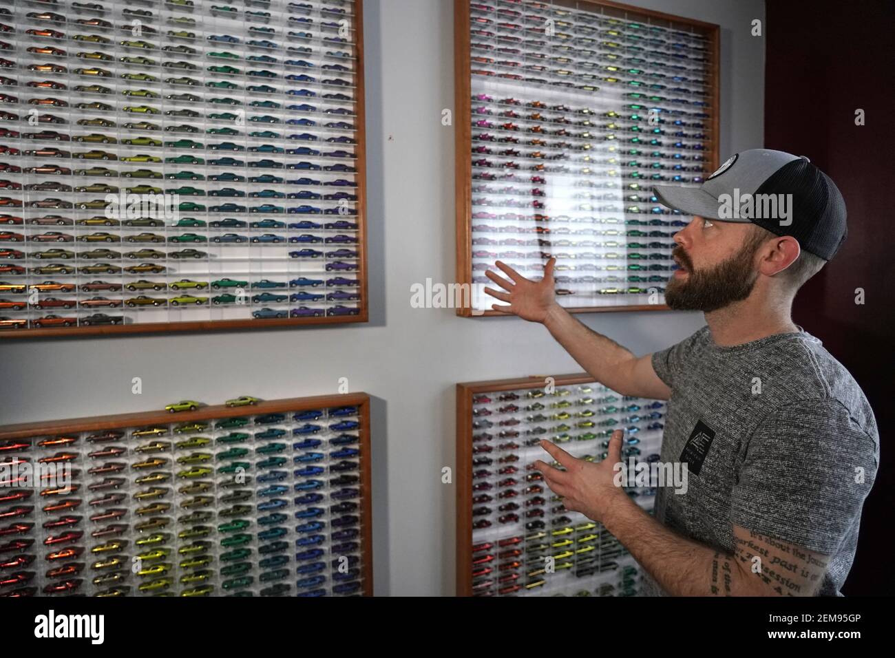
[[[831,555],[860,518],[878,447],[834,399],[801,400],[753,432],[731,495],[731,520]]]

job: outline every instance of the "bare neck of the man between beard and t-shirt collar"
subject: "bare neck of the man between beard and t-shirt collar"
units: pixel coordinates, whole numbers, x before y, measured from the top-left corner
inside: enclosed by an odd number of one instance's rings
[[[705,313],[705,322],[712,333],[712,341],[719,347],[736,346],[775,334],[797,333],[788,303],[755,303],[748,299]]]

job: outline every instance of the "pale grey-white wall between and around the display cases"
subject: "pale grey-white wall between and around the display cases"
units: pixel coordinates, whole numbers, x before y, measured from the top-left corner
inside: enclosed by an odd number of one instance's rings
[[[760,0],[638,0],[720,23],[721,158],[760,147],[764,49],[748,24]],[[367,325],[0,343],[0,423],[352,390],[373,397],[376,594],[454,593],[457,381],[577,372],[540,325],[413,309],[410,286],[454,275],[453,3],[367,0],[369,261]],[[689,336],[693,312],[579,316],[636,354]],[[2,340],[2,338],[0,338]],[[131,380],[143,391],[132,395]]]

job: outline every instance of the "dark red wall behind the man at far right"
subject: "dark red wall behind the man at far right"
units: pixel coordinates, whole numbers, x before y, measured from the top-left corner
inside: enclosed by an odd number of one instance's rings
[[[864,389],[881,464],[843,594],[891,595],[895,522],[895,20],[891,0],[767,0],[764,147],[805,155],[839,186],[848,239],[796,298],[793,319]],[[855,125],[855,110],[866,124]],[[855,289],[865,304],[856,305]]]

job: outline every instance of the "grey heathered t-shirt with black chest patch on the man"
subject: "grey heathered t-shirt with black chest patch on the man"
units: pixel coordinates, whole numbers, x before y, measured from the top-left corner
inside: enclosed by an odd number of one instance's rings
[[[661,462],[688,464],[688,490],[659,487],[655,517],[724,551],[734,551],[737,525],[830,555],[818,594],[836,596],[855,557],[879,433],[857,382],[798,329],[717,346],[705,326],[652,355],[671,389]],[[665,594],[645,570],[641,594]]]

